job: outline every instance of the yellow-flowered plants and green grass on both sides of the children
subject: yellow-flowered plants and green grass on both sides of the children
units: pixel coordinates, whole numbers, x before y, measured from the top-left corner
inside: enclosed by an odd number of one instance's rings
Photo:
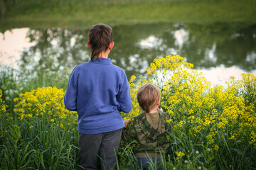
[[[152,82],[161,90],[161,108],[171,115],[170,147],[162,162],[166,169],[255,169],[255,75],[231,78],[223,89],[211,87],[191,67],[169,55],[155,59],[146,77],[132,76],[134,108],[124,120],[140,113],[137,89]],[[13,108],[0,93],[0,169],[78,168],[77,114],[65,110],[64,93],[50,86],[31,89],[12,97]],[[118,169],[139,169],[133,146],[121,143]],[[156,169],[154,162],[151,167]]]

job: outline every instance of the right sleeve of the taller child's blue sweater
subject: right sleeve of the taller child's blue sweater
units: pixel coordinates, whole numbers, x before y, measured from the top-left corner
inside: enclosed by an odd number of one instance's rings
[[[124,73],[124,81],[119,86],[117,101],[120,105],[120,107],[118,108],[119,111],[122,111],[124,113],[129,113],[130,111],[132,111],[132,100],[131,100],[131,94],[129,91],[129,83],[125,73]]]

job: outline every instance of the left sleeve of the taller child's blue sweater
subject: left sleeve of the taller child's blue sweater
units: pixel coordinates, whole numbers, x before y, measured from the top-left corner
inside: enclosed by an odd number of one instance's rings
[[[67,91],[64,96],[65,108],[69,111],[77,111],[77,98],[78,98],[78,74],[76,73],[76,67],[73,69],[73,72],[70,75],[68,81]]]

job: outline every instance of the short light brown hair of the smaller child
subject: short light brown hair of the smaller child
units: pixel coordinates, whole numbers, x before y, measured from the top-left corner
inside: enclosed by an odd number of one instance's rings
[[[144,112],[149,113],[156,106],[159,99],[160,91],[153,84],[146,83],[139,87],[137,101]]]

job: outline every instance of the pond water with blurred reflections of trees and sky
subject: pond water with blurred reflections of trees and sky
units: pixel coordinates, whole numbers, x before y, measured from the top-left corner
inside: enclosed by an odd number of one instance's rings
[[[65,72],[87,62],[88,29],[16,28],[0,33],[0,64],[23,74]],[[213,86],[230,77],[256,74],[256,24],[136,24],[113,27],[112,63],[127,77],[144,74],[154,58],[180,55]]]

